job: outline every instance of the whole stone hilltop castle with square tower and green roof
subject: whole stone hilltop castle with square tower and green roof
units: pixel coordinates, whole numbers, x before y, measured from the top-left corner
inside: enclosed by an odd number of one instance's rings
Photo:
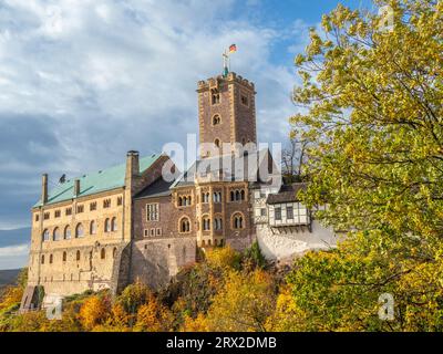
[[[197,248],[258,240],[269,259],[330,247],[334,233],[297,198],[302,184],[280,186],[269,150],[258,150],[254,83],[234,72],[197,84],[199,159],[174,179],[165,154],[61,181],[32,208],[29,280],[21,309],[85,290],[119,293],[140,280],[167,283],[196,261]],[[251,148],[248,148],[251,146]],[[167,167],[167,168],[166,168]],[[44,301],[44,300],[43,300]]]

